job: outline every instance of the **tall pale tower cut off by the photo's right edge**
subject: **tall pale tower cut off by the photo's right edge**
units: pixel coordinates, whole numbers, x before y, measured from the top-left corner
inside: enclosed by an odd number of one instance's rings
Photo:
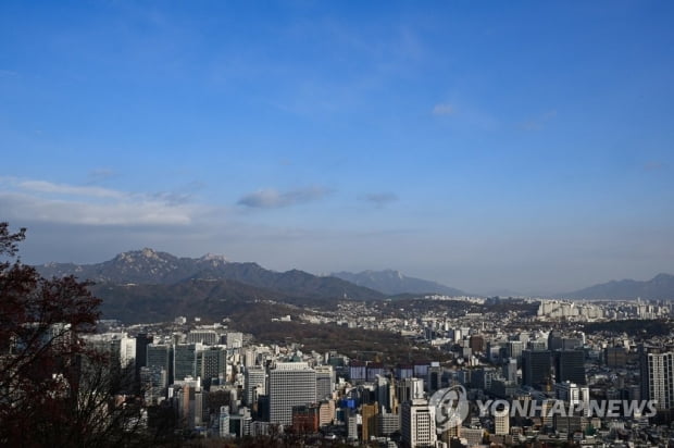
[[[656,400],[656,409],[674,408],[674,353],[639,346],[641,399]]]

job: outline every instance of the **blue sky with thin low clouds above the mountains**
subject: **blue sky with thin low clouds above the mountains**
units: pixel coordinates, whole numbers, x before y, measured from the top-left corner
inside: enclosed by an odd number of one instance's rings
[[[674,265],[667,1],[0,3],[26,262],[559,293]]]

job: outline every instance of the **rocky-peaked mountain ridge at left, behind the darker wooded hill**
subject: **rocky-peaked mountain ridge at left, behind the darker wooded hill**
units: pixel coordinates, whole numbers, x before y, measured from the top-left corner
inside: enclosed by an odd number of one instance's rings
[[[316,276],[291,270],[275,272],[252,262],[230,262],[224,257],[178,258],[153,249],[133,250],[102,263],[48,263],[36,266],[47,277],[76,275],[97,283],[173,285],[195,279],[234,281],[263,288],[287,298],[380,300],[385,296],[373,289],[336,277]]]

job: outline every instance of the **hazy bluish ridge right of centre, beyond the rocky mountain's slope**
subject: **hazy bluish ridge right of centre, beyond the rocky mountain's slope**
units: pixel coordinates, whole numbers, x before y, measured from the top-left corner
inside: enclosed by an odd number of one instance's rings
[[[394,270],[363,271],[357,274],[351,272],[334,272],[330,275],[387,295],[436,293],[446,296],[467,296],[467,294],[461,289],[452,288],[437,282],[408,277],[400,271]]]

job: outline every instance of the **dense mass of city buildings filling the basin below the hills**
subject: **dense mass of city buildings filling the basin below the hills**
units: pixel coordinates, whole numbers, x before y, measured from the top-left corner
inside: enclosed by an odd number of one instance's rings
[[[541,304],[538,318],[563,309],[554,303]],[[578,308],[607,312],[606,306]],[[659,304],[634,309],[664,313]],[[313,319],[321,324],[330,318]],[[184,319],[113,325],[89,340],[133,372],[149,426],[163,409],[198,437],[283,432],[384,447],[669,443],[674,339],[586,334],[529,318],[519,323],[516,313],[502,315],[499,325],[495,319],[429,313],[401,323],[401,333],[437,345],[450,361],[395,365],[335,351],[302,352],[298,345],[255,345],[225,325]],[[129,336],[137,329],[142,332]],[[447,406],[455,403],[437,400],[447,390],[463,394],[465,414],[458,424],[446,419],[453,409]]]

